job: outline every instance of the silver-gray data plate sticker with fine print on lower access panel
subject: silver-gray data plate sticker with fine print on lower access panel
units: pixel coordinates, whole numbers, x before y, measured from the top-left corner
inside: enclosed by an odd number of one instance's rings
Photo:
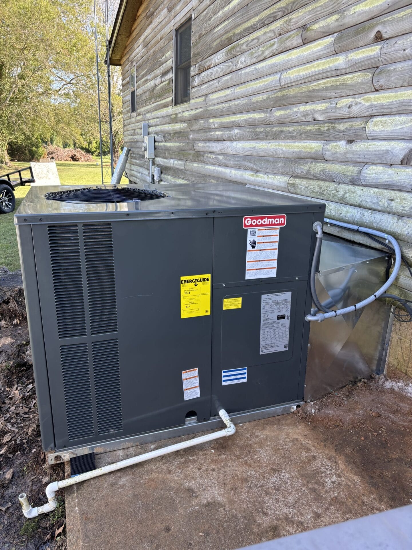
[[[291,292],[263,294],[260,310],[260,355],[286,351],[289,345]]]

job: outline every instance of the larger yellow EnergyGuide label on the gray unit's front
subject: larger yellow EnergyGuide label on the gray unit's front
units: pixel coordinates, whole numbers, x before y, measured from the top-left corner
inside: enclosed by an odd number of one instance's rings
[[[210,315],[210,279],[207,275],[180,277],[180,317]]]

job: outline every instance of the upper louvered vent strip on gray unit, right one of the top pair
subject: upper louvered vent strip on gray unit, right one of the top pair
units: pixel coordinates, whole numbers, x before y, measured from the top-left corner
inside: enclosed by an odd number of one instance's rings
[[[112,224],[83,225],[90,329],[92,334],[116,332],[116,289]]]

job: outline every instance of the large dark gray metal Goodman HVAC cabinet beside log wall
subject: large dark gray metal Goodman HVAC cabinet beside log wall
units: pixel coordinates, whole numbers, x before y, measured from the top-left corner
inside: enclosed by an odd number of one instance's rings
[[[325,205],[230,183],[156,189],[85,202],[110,191],[32,188],[15,215],[45,450],[303,399]]]

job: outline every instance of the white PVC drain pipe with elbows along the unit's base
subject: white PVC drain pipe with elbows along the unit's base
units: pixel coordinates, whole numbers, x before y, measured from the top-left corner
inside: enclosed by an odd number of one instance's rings
[[[163,447],[162,449],[152,450],[149,453],[140,454],[133,456],[132,458],[127,458],[126,460],[121,460],[120,462],[115,462],[114,464],[108,464],[98,468],[97,470],[92,470],[90,472],[85,472],[75,477],[70,477],[66,480],[53,481],[49,483],[46,487],[46,496],[48,498],[48,503],[43,506],[38,506],[32,508],[29,499],[25,493],[19,494],[19,500],[21,508],[23,509],[23,514],[26,518],[35,518],[40,514],[47,514],[48,512],[53,511],[57,507],[57,497],[56,492],[59,489],[64,487],[70,487],[70,485],[75,485],[76,483],[81,483],[82,481],[90,480],[93,477],[103,476],[104,474],[109,474],[109,472],[114,472],[116,470],[121,470],[127,466],[132,466],[133,464],[138,464],[146,460],[151,460],[157,456],[162,456],[164,454],[174,453],[177,450],[186,449],[187,447],[193,447],[193,445],[199,445],[200,443],[205,443],[206,441],[213,441],[213,439],[219,439],[220,437],[231,436],[236,432],[236,427],[233,422],[230,420],[229,415],[225,409],[219,411],[219,416],[225,422],[226,428],[219,430],[218,432],[208,433],[205,436],[195,437],[194,439],[189,439],[188,441],[182,441],[174,445],[169,445],[169,447]]]

